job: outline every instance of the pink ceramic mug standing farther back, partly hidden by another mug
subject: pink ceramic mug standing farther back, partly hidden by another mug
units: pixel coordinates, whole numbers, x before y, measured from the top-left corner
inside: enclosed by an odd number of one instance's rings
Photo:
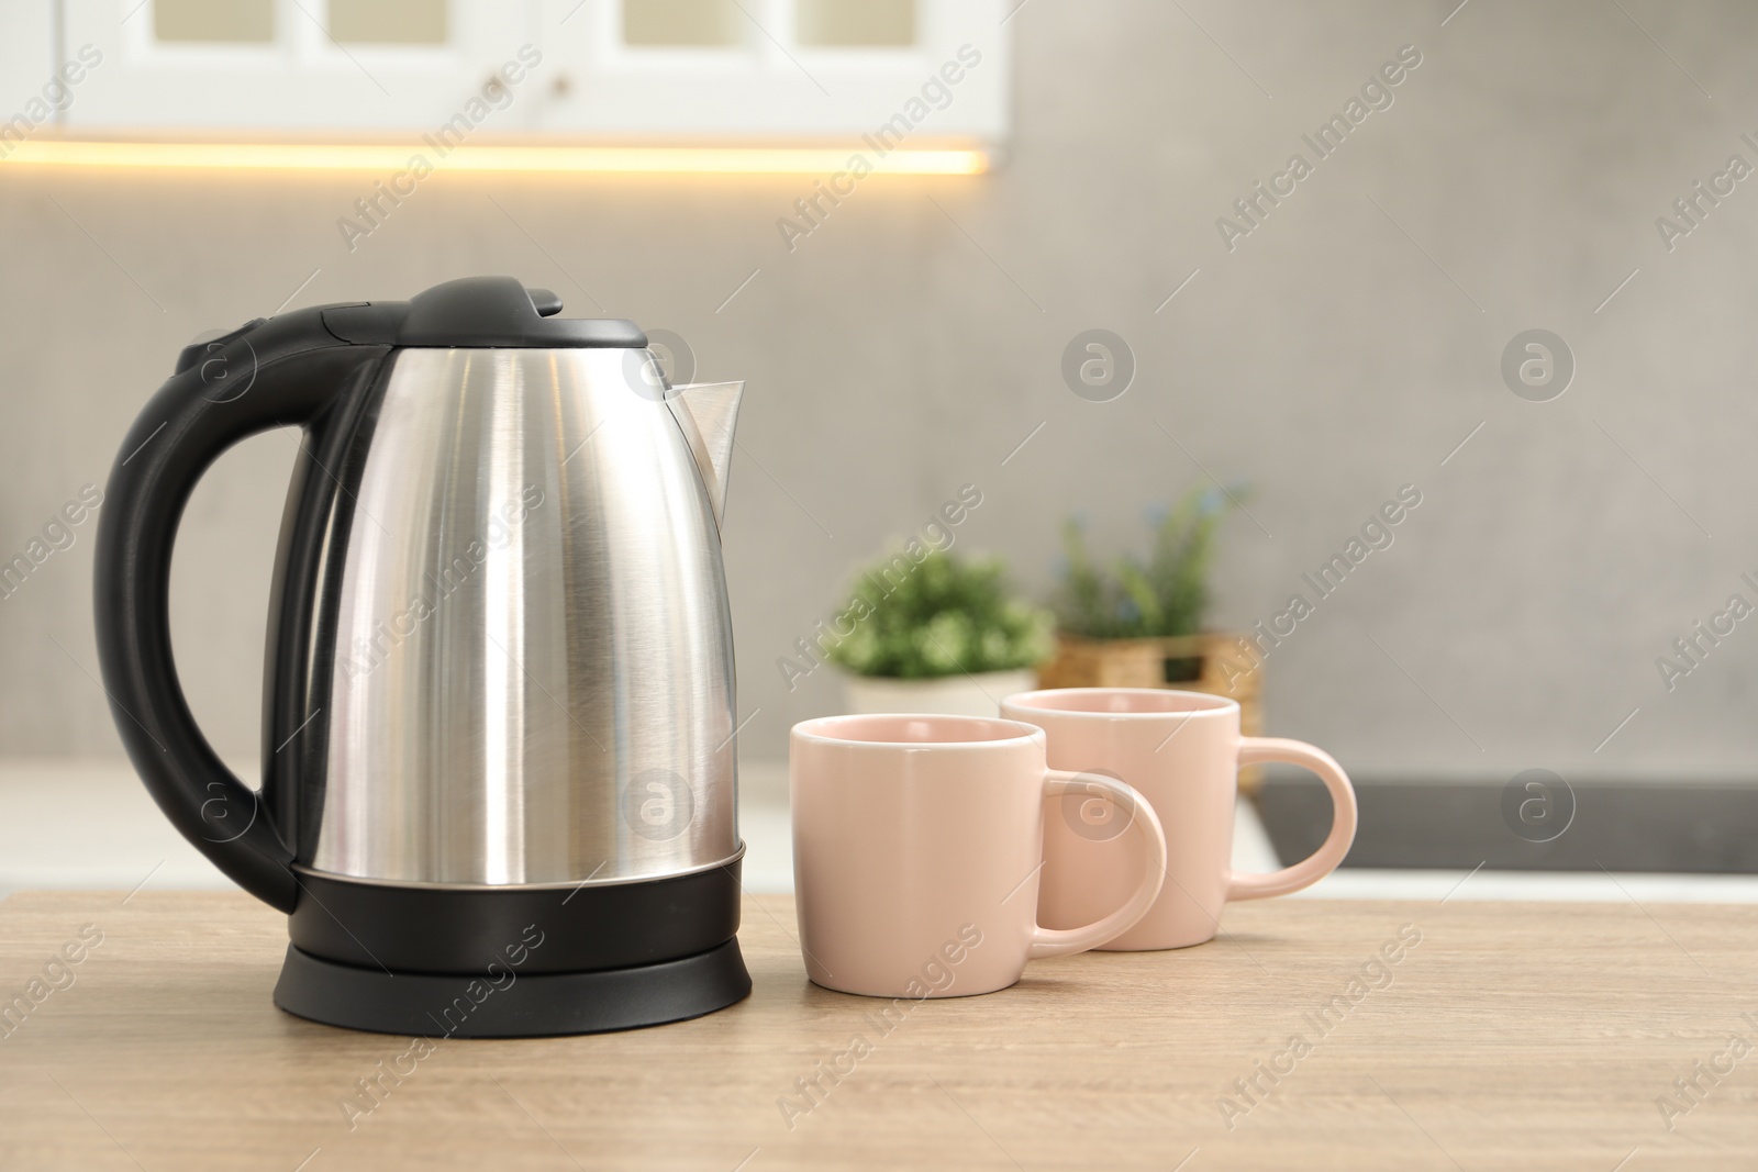
[[[1355,840],[1355,791],[1343,766],[1303,742],[1241,736],[1239,705],[1224,696],[1151,687],[1064,687],[1000,703],[1009,720],[1050,734],[1050,763],[1095,782],[1086,798],[1046,801],[1044,924],[1079,924],[1115,907],[1141,866],[1123,836],[1127,808],[1108,801],[1104,775],[1139,789],[1166,826],[1171,865],[1159,901],[1109,951],[1181,949],[1213,940],[1229,900],[1262,900],[1310,887],[1336,870]],[[1232,872],[1232,808],[1239,766],[1301,764],[1331,791],[1331,835],[1310,857],[1268,875]],[[1122,812],[1122,814],[1120,814]]]

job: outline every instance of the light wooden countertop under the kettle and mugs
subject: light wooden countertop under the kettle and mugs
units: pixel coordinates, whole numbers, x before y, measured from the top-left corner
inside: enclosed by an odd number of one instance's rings
[[[884,1033],[884,1002],[805,980],[793,900],[756,896],[747,1002],[443,1040],[350,1128],[343,1100],[410,1040],[276,1010],[287,935],[248,896],[125,894],[0,903],[0,1009],[65,986],[0,1023],[4,1168],[1758,1165],[1753,907],[1246,903],[1215,944],[1037,961]],[[102,944],[49,972],[83,928]],[[1401,930],[1420,940],[1375,961]],[[819,1063],[849,1074],[812,1103]]]

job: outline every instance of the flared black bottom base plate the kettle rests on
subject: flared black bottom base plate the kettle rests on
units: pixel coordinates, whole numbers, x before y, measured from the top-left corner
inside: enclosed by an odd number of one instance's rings
[[[425,1038],[533,1038],[701,1017],[751,993],[738,938],[659,965],[577,973],[392,973],[287,945],[274,1003],[329,1026]]]

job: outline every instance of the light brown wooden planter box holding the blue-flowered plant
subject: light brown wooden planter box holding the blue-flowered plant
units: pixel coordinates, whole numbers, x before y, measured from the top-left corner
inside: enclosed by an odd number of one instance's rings
[[[1264,671],[1238,650],[1239,634],[1204,633],[1166,640],[1057,636],[1057,657],[1037,671],[1039,687],[1166,687],[1239,701],[1239,731],[1264,734]],[[1224,661],[1234,664],[1232,680]],[[1262,766],[1239,770],[1239,789],[1255,794]]]

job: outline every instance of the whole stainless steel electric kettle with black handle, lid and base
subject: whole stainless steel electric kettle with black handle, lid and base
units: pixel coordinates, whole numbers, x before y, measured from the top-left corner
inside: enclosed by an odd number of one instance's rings
[[[417,1037],[592,1033],[751,991],[721,513],[742,383],[513,278],[188,346],[97,550],[111,713],[176,828],[287,912],[274,1002]],[[262,789],[202,738],[169,571],[195,481],[302,427]]]

